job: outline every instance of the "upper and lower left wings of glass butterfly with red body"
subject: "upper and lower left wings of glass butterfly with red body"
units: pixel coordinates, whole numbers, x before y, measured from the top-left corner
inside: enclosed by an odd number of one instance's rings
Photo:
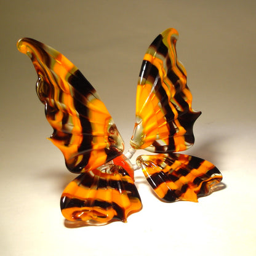
[[[142,208],[124,143],[96,90],[65,56],[34,39],[18,41],[38,73],[36,89],[54,129],[50,140],[71,172],[82,173],[62,194],[62,214],[89,224],[126,222]]]

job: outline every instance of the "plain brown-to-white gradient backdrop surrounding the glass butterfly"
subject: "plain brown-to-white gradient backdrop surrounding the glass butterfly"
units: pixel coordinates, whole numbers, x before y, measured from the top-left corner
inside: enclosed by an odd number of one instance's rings
[[[256,255],[255,9],[254,0],[0,1],[0,254]],[[226,188],[198,204],[165,204],[138,171],[140,212],[127,223],[72,228],[59,201],[76,175],[46,140],[36,73],[15,44],[37,39],[78,66],[127,150],[143,55],[169,27],[180,33],[178,58],[202,111],[188,153],[213,162]]]

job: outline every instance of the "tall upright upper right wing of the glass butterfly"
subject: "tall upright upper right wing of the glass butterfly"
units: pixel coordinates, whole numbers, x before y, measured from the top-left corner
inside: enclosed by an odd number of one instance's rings
[[[172,153],[194,143],[193,124],[201,112],[191,108],[186,70],[176,54],[177,39],[177,30],[167,29],[154,39],[143,58],[130,141],[135,149]]]

